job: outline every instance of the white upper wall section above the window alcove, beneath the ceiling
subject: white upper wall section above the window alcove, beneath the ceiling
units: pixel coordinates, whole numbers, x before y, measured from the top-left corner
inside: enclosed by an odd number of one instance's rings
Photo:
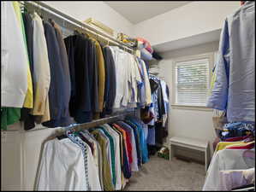
[[[140,22],[133,27],[134,36],[157,45],[216,31],[225,17],[239,7],[239,1],[195,1]]]

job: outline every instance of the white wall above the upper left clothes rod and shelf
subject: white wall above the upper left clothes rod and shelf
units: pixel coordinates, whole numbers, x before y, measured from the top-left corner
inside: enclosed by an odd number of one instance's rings
[[[46,1],[44,3],[77,20],[84,21],[92,17],[115,30],[115,33],[132,34],[133,24],[102,1]]]

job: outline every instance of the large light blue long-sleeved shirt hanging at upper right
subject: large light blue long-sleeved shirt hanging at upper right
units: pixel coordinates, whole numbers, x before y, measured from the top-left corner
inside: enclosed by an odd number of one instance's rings
[[[229,122],[255,121],[255,11],[246,2],[224,21],[207,106],[226,110]]]

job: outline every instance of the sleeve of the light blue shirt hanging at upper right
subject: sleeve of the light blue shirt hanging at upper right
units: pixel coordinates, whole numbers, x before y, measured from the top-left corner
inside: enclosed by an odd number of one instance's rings
[[[224,21],[220,37],[219,53],[216,63],[216,80],[207,107],[225,110],[229,94],[229,27],[228,20]]]

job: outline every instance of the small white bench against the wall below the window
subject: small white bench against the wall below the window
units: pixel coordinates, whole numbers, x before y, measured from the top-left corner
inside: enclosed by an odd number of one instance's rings
[[[187,137],[171,137],[170,138],[170,160],[174,157],[174,146],[183,148],[191,148],[205,153],[205,172],[210,162],[210,146],[208,141],[191,139]]]

